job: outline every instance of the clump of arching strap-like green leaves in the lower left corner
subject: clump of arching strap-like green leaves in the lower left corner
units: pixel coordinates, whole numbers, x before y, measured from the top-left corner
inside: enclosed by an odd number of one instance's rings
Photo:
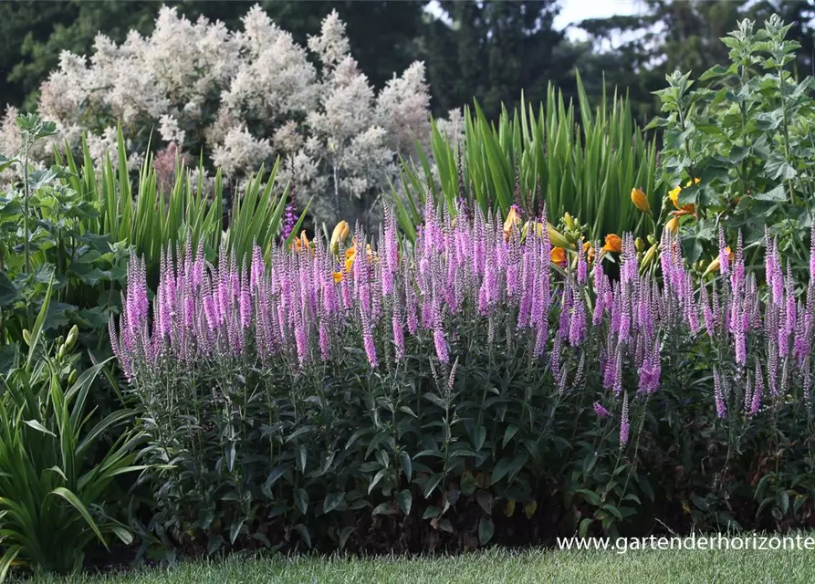
[[[3,374],[0,395],[0,581],[11,566],[68,573],[81,568],[84,550],[110,537],[132,541],[115,520],[120,511],[110,493],[114,478],[143,470],[134,464],[139,433],[121,431],[132,412],[112,412],[95,424],[87,401],[91,385],[108,363],[77,375],[71,354],[78,329],[49,343],[43,335],[51,287],[27,352],[16,347]],[[117,433],[107,450],[99,442]]]

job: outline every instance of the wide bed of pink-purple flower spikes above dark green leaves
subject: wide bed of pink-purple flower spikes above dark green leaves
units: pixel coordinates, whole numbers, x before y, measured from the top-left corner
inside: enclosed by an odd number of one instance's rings
[[[387,214],[243,267],[168,251],[152,310],[131,264],[110,337],[170,465],[147,479],[165,543],[811,525],[815,286],[772,239],[763,298],[740,240],[696,291],[670,232],[658,260],[631,235],[557,255],[545,212],[424,213],[413,246]]]

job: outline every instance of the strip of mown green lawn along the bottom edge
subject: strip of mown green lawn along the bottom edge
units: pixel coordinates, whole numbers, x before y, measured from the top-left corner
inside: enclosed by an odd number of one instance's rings
[[[587,582],[683,584],[815,582],[812,550],[490,550],[423,558],[229,558],[98,577],[39,577],[42,584],[462,584]],[[30,580],[29,580],[30,581]]]

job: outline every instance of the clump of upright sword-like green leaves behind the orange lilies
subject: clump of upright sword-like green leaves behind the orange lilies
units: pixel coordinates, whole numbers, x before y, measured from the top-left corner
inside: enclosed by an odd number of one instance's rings
[[[654,216],[660,214],[665,184],[656,175],[657,146],[632,120],[628,99],[616,93],[592,109],[578,77],[577,106],[567,106],[551,85],[536,113],[532,103],[497,123],[475,104],[465,111],[463,146],[434,125],[433,161],[438,183],[429,185],[428,154],[420,163],[402,162],[402,193],[394,190],[402,230],[415,236],[422,222],[425,193],[455,213],[459,199],[506,217],[518,204],[524,218],[536,216],[546,203],[549,217],[569,213],[588,223],[590,241],[607,234],[652,233],[652,224],[631,203],[632,188],[647,193]],[[577,124],[578,117],[580,124]],[[554,223],[554,222],[553,222]]]

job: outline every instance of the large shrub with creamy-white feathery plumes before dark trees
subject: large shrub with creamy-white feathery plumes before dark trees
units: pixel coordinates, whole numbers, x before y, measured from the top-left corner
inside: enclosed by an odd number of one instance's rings
[[[298,181],[300,208],[313,196],[311,211],[319,220],[367,211],[370,197],[392,178],[395,156],[410,155],[416,140],[429,138],[423,64],[414,63],[377,93],[350,56],[336,12],[308,49],[259,6],[243,24],[230,31],[163,7],[151,36],[131,32],[117,46],[99,35],[89,59],[63,53],[42,87],[38,110],[57,122],[64,130],[60,141],[73,148],[88,131],[98,163],[115,153],[120,121],[130,151],[143,152],[151,138],[153,144],[161,138],[157,161],[176,151],[198,160],[203,151],[235,179],[281,156],[284,178]],[[0,125],[0,151],[17,150],[8,122],[15,115],[9,108]],[[49,149],[39,153],[47,158]],[[133,157],[131,169],[140,162]]]

